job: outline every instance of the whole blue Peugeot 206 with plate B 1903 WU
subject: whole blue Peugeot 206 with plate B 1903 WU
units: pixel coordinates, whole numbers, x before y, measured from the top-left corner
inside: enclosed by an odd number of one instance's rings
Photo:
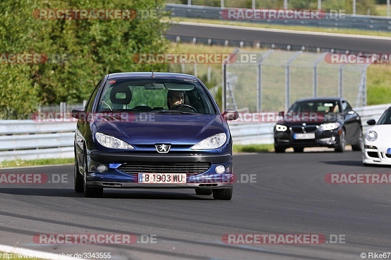
[[[102,197],[104,188],[194,188],[230,200],[232,137],[216,101],[196,77],[115,73],[75,108],[76,192]]]

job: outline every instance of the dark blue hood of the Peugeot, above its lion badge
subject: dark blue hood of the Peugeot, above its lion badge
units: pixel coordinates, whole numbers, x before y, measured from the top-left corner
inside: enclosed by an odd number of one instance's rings
[[[223,132],[220,115],[134,114],[94,116],[97,130],[130,144],[195,144]]]

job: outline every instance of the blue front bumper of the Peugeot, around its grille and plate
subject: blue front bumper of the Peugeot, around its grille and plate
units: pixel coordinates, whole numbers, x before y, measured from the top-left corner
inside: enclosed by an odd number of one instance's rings
[[[170,154],[152,154],[152,153],[107,153],[92,151],[88,160],[87,185],[107,188],[230,188],[234,183],[232,170],[233,157],[229,153],[170,153]],[[161,173],[169,174],[172,170],[171,165],[189,163],[208,163],[209,168],[203,172],[192,172],[185,170],[186,183],[138,183],[139,173]],[[99,164],[108,166],[108,171],[98,172]],[[124,167],[126,164],[142,165],[140,171],[127,172]],[[162,166],[155,171],[155,168],[145,168],[145,165],[153,167]],[[170,165],[169,167],[167,165]],[[222,174],[216,173],[216,166],[224,165],[226,171]],[[174,167],[174,166],[173,166]],[[193,169],[193,168],[192,168]],[[167,170],[167,172],[164,172]]]

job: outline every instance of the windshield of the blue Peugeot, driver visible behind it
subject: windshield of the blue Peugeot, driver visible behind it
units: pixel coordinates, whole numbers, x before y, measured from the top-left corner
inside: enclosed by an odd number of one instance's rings
[[[169,79],[108,80],[97,111],[217,114],[198,82]]]

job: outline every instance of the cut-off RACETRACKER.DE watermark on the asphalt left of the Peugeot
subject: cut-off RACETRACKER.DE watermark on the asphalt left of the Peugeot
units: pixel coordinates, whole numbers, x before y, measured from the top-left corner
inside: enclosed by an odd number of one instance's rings
[[[68,175],[45,173],[0,173],[0,185],[44,183],[68,183]]]

